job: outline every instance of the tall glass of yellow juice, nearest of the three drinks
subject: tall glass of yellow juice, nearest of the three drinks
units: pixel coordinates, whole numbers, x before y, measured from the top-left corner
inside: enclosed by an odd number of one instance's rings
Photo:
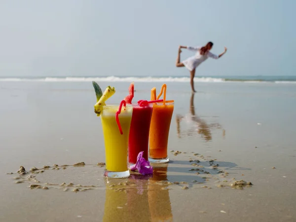
[[[116,111],[119,105],[106,105],[101,114],[105,153],[106,169],[104,176],[111,178],[129,177],[130,173],[127,166],[127,149],[130,125],[133,114],[133,106],[122,106],[118,115],[123,134],[120,134],[115,119]]]

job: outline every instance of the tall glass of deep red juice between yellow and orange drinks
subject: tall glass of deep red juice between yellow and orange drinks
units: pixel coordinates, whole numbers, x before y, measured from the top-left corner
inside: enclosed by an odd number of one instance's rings
[[[148,141],[152,104],[141,107],[133,104],[133,116],[131,121],[128,141],[128,162],[136,163],[139,152],[144,151],[143,157],[148,160]]]

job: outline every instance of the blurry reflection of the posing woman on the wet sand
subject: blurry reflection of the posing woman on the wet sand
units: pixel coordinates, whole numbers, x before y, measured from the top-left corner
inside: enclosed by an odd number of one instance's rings
[[[192,122],[196,123],[196,125],[197,125],[197,133],[198,134],[201,134],[201,136],[204,138],[205,141],[211,141],[212,140],[211,129],[212,128],[221,128],[221,125],[219,123],[207,124],[205,120],[199,118],[195,114],[195,109],[194,109],[194,93],[192,93],[191,94],[191,97],[190,97],[189,111],[190,111],[190,114],[191,114],[190,120]],[[180,122],[182,121],[183,118],[184,118],[184,116],[179,115],[179,114],[176,116],[177,133],[178,133],[178,137],[179,138],[182,137]],[[187,135],[192,135],[192,130],[187,130]],[[223,129],[223,137],[224,136],[225,136],[225,130]]]

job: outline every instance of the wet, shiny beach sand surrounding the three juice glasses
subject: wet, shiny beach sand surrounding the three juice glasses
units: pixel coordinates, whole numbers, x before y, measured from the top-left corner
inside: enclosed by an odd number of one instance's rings
[[[128,94],[127,82],[99,84],[116,88],[109,103]],[[136,82],[134,101],[161,84]],[[167,83],[171,162],[153,165],[153,176],[107,180],[91,82],[0,82],[0,221],[296,221],[294,84],[196,89]]]

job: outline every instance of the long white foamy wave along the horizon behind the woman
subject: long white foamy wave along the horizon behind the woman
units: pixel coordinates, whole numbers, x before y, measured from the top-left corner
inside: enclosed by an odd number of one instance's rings
[[[36,77],[36,78],[18,78],[18,77],[0,77],[2,82],[19,82],[19,81],[35,81],[35,82],[189,82],[189,77]],[[245,83],[296,83],[296,79],[256,79],[256,78],[219,78],[219,77],[195,77],[195,82],[245,82]]]

